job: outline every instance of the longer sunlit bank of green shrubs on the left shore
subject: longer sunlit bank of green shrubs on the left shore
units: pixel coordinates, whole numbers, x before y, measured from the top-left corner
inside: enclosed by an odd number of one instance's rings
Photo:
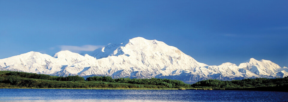
[[[57,77],[17,71],[0,71],[0,88],[83,88],[83,89],[182,89],[190,88],[179,80],[168,79],[112,79],[106,76]]]

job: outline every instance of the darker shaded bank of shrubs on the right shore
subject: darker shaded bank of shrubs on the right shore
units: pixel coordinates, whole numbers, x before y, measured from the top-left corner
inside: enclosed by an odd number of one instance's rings
[[[228,90],[259,90],[288,92],[288,77],[284,78],[256,78],[232,81],[202,80],[191,85],[193,88],[228,89]]]

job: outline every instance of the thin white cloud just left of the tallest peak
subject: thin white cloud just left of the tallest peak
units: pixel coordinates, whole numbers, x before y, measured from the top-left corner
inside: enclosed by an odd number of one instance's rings
[[[83,45],[83,46],[69,46],[69,45],[60,45],[59,48],[61,51],[94,51],[98,48],[102,48],[102,45]]]

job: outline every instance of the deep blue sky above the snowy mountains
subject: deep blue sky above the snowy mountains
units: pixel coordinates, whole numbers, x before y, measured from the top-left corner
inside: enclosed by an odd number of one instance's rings
[[[0,59],[29,51],[86,53],[141,36],[199,62],[250,58],[288,66],[288,1],[0,0]],[[71,48],[72,47],[72,48]]]

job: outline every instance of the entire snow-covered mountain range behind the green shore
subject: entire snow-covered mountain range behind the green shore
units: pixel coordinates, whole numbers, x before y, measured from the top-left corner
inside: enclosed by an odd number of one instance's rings
[[[0,70],[23,71],[55,76],[79,75],[130,78],[168,78],[183,81],[234,80],[256,77],[286,77],[288,68],[269,60],[251,58],[239,66],[223,63],[208,66],[178,48],[142,37],[96,49],[92,56],[60,51],[53,57],[39,52],[0,59]]]

